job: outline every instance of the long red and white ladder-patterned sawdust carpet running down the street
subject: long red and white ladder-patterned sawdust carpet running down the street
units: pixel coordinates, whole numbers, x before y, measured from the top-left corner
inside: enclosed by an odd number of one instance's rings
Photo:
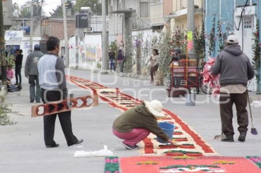
[[[126,111],[133,106],[139,105],[142,101],[133,98],[128,94],[122,93],[118,88],[107,88],[99,83],[92,82],[88,79],[78,78],[75,76],[66,76],[67,80],[76,86],[92,90],[93,93],[97,93],[99,98],[107,102],[110,106],[122,111]],[[154,134],[150,134],[146,139],[142,141],[141,153],[152,155],[171,155],[171,156],[205,156],[215,155],[216,152],[206,144],[203,139],[196,134],[188,125],[181,120],[180,117],[175,115],[169,110],[164,109],[163,113],[166,114],[165,118],[158,119],[158,122],[167,121],[175,124],[176,128],[173,134],[173,141],[182,144],[180,147],[174,147],[171,145],[162,145],[155,138]],[[169,150],[184,150],[184,152],[170,153]]]

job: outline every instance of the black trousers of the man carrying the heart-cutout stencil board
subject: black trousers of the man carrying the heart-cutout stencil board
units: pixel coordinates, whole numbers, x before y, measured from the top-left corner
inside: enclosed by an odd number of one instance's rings
[[[45,97],[44,97],[44,91],[45,91],[44,89],[41,90],[41,97],[42,97],[43,103],[46,103],[45,101],[48,101],[48,102],[59,101],[61,98],[61,93],[59,91],[48,90],[46,92]],[[57,115],[57,113],[44,116],[45,145],[53,146],[56,144],[55,141],[53,140],[56,115]],[[58,113],[58,117],[60,120],[60,124],[61,124],[64,136],[65,136],[65,139],[67,141],[67,145],[70,146],[70,145],[76,144],[78,139],[72,133],[71,111]]]

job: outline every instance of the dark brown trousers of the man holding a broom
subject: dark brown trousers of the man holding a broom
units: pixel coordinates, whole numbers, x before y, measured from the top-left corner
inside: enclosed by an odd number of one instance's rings
[[[223,102],[223,103],[222,103]],[[232,125],[233,110],[232,106],[236,105],[238,131],[247,131],[248,114],[247,114],[247,91],[243,94],[226,94],[220,93],[220,116],[222,130],[225,135],[234,135]]]

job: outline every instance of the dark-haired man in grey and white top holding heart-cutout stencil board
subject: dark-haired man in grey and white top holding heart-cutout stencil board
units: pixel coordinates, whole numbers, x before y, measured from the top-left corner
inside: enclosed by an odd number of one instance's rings
[[[60,52],[60,40],[49,37],[46,41],[48,53],[38,61],[39,83],[43,103],[61,101],[67,98],[67,86],[64,71],[64,62],[58,56]],[[60,124],[68,146],[80,144],[72,133],[71,111],[55,113],[44,116],[44,140],[47,148],[59,147],[53,140],[55,120],[58,114]]]

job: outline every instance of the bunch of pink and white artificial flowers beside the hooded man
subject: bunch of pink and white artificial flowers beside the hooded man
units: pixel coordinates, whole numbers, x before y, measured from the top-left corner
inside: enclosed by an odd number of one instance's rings
[[[212,96],[214,98],[218,98],[220,93],[219,75],[213,75],[211,72],[211,67],[214,65],[215,61],[216,59],[209,58],[201,75],[203,76],[202,84],[208,86],[209,90],[212,91]]]

